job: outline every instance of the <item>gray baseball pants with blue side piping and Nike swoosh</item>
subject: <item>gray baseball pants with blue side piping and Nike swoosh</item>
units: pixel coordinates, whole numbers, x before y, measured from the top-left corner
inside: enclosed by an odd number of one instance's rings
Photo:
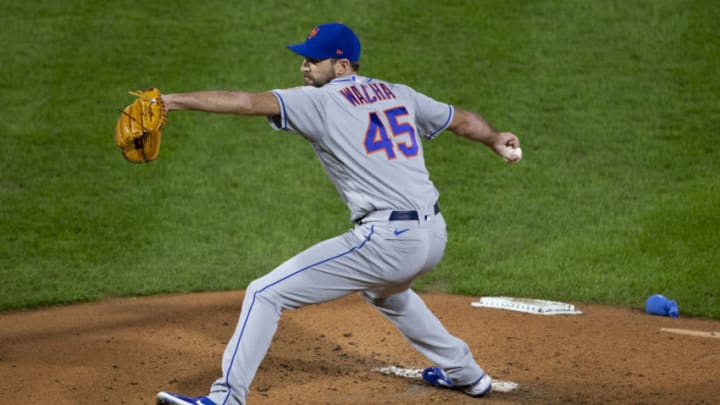
[[[211,387],[217,404],[244,404],[285,309],[362,292],[408,342],[458,385],[483,370],[468,346],[451,335],[410,287],[442,258],[447,242],[441,214],[389,221],[388,211],[364,218],[354,229],[320,242],[250,283],[240,318],[223,355],[223,376]]]

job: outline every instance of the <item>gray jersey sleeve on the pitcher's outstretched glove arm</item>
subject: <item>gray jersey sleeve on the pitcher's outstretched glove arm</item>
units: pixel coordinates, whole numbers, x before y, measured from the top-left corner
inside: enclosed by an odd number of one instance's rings
[[[311,86],[273,90],[280,103],[280,115],[267,117],[270,126],[316,141],[322,135],[325,120],[323,95]]]

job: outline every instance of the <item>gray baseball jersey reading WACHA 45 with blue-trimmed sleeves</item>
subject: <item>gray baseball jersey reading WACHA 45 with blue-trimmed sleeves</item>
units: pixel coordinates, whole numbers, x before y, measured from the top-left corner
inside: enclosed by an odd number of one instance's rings
[[[452,106],[405,85],[360,76],[274,93],[282,115],[271,124],[312,143],[353,221],[373,211],[425,209],[437,201],[420,137],[447,128]]]

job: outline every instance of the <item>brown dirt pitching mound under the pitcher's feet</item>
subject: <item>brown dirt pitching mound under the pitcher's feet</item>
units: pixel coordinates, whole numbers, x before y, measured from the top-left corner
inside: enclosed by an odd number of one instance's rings
[[[251,404],[717,403],[720,322],[576,304],[582,315],[474,308],[422,295],[509,392],[483,400],[432,388],[427,362],[359,296],[286,311]],[[159,390],[206,393],[242,292],[108,300],[0,314],[6,403],[153,404]],[[394,367],[394,368],[393,368]]]

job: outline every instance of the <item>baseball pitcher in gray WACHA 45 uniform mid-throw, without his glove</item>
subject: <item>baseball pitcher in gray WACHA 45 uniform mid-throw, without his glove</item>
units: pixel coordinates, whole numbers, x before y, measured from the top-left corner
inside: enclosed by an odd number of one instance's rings
[[[303,57],[305,86],[164,94],[159,104],[168,112],[263,116],[275,130],[303,137],[347,204],[354,226],[250,283],[222,358],[222,377],[209,393],[160,392],[157,403],[244,404],[284,309],[357,292],[428,359],[426,382],[471,396],[487,394],[491,378],[468,346],[411,289],[418,276],[438,264],[447,241],[422,138],[450,130],[487,145],[510,163],[521,158],[520,141],[476,113],[406,85],[360,76],[360,41],[347,25],[318,25],[304,42],[288,48]]]

